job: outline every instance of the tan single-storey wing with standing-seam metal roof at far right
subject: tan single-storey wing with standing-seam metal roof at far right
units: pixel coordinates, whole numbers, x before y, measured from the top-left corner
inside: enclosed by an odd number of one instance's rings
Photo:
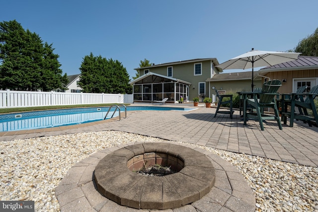
[[[295,92],[304,85],[309,91],[318,85],[318,57],[298,56],[298,60],[260,69],[259,74],[281,80],[279,93]]]

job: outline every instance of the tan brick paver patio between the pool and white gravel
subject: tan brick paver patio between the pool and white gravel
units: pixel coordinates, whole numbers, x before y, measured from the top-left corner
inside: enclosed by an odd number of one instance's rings
[[[181,107],[180,104],[162,106]],[[315,126],[296,121],[293,128],[283,125],[283,130],[279,130],[277,123],[267,121],[265,130],[261,131],[258,122],[252,120],[244,126],[239,111],[235,111],[233,119],[226,114],[214,118],[215,108],[191,104],[182,104],[182,107],[197,110],[128,111],[127,119],[121,121],[114,118],[80,125],[0,132],[0,141],[115,130],[318,167],[318,128]]]

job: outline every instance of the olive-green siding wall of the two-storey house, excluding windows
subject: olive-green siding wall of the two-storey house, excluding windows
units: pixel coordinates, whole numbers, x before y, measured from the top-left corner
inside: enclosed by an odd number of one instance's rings
[[[211,78],[211,60],[202,62],[202,75],[194,75],[194,64],[195,63],[188,63],[172,66],[172,78],[191,83],[189,87],[189,101],[192,101],[194,97],[199,95],[199,82],[205,82],[205,96],[209,96],[209,82],[206,82],[206,80]],[[167,67],[170,66],[150,67],[149,71],[166,76]],[[140,76],[144,74],[144,70],[147,69],[140,70]]]

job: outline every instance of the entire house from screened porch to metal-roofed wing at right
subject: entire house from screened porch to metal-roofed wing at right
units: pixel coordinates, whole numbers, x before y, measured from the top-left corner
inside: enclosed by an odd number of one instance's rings
[[[194,59],[137,68],[140,77],[131,81],[135,102],[150,102],[168,97],[174,103],[182,96],[192,101],[199,96],[211,97],[215,101],[215,90],[231,94],[251,90],[252,71],[221,73],[216,58]],[[265,67],[254,71],[254,88],[262,87],[266,80],[279,79],[279,93],[295,92],[303,85],[318,85],[318,57],[299,56],[298,60]]]

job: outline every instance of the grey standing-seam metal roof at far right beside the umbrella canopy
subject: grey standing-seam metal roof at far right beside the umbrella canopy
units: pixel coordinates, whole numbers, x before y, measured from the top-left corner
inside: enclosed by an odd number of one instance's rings
[[[265,67],[259,71],[289,71],[289,70],[318,69],[318,57],[298,56],[295,61],[289,61],[274,66]]]

